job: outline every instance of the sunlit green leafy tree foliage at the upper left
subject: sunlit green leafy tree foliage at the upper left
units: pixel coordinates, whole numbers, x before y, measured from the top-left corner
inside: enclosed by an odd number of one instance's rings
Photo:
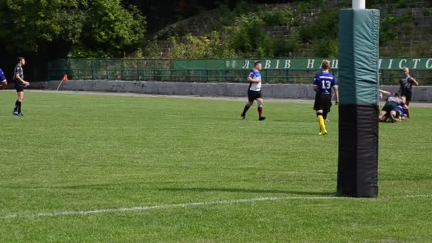
[[[146,20],[121,0],[6,0],[0,3],[0,43],[7,53],[68,53],[70,48],[113,55],[144,41]]]

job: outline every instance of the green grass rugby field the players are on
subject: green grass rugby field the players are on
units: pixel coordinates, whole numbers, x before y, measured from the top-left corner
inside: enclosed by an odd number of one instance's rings
[[[432,239],[431,108],[380,125],[379,198],[355,199],[333,197],[337,107],[318,136],[311,104],[257,121],[238,101],[26,92],[18,118],[14,100],[0,92],[0,242]]]

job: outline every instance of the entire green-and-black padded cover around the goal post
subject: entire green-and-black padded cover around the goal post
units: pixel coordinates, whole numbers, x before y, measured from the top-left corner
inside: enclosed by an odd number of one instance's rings
[[[379,11],[343,9],[339,22],[338,195],[378,195]]]

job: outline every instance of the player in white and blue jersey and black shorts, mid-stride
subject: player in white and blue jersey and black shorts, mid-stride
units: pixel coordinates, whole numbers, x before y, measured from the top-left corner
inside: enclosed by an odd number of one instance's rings
[[[242,119],[246,118],[247,110],[252,107],[254,100],[258,102],[258,119],[263,121],[266,117],[262,116],[262,95],[261,95],[261,63],[257,62],[254,64],[254,69],[249,73],[247,81],[249,82],[249,87],[247,89],[247,99],[248,102],[244,106],[242,114],[240,116]]]

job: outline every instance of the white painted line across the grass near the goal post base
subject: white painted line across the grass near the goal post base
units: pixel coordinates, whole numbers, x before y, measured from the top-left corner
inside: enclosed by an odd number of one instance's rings
[[[381,197],[381,198],[432,198],[432,195],[402,195],[394,197]],[[285,198],[249,198],[249,199],[237,199],[237,200],[222,200],[213,202],[188,202],[180,204],[166,204],[166,205],[154,205],[154,206],[144,206],[144,207],[119,207],[119,208],[109,208],[100,210],[80,210],[80,211],[63,211],[63,212],[36,212],[36,213],[9,213],[0,216],[1,220],[9,220],[13,218],[36,218],[36,217],[58,217],[58,216],[72,216],[72,215],[94,215],[103,213],[113,213],[113,212],[139,212],[148,210],[163,210],[178,207],[195,207],[195,206],[205,206],[205,205],[231,205],[244,202],[261,202],[261,201],[276,201],[276,200],[358,200],[365,198],[343,198],[335,196],[327,197],[285,197]],[[377,198],[379,199],[379,198]]]

